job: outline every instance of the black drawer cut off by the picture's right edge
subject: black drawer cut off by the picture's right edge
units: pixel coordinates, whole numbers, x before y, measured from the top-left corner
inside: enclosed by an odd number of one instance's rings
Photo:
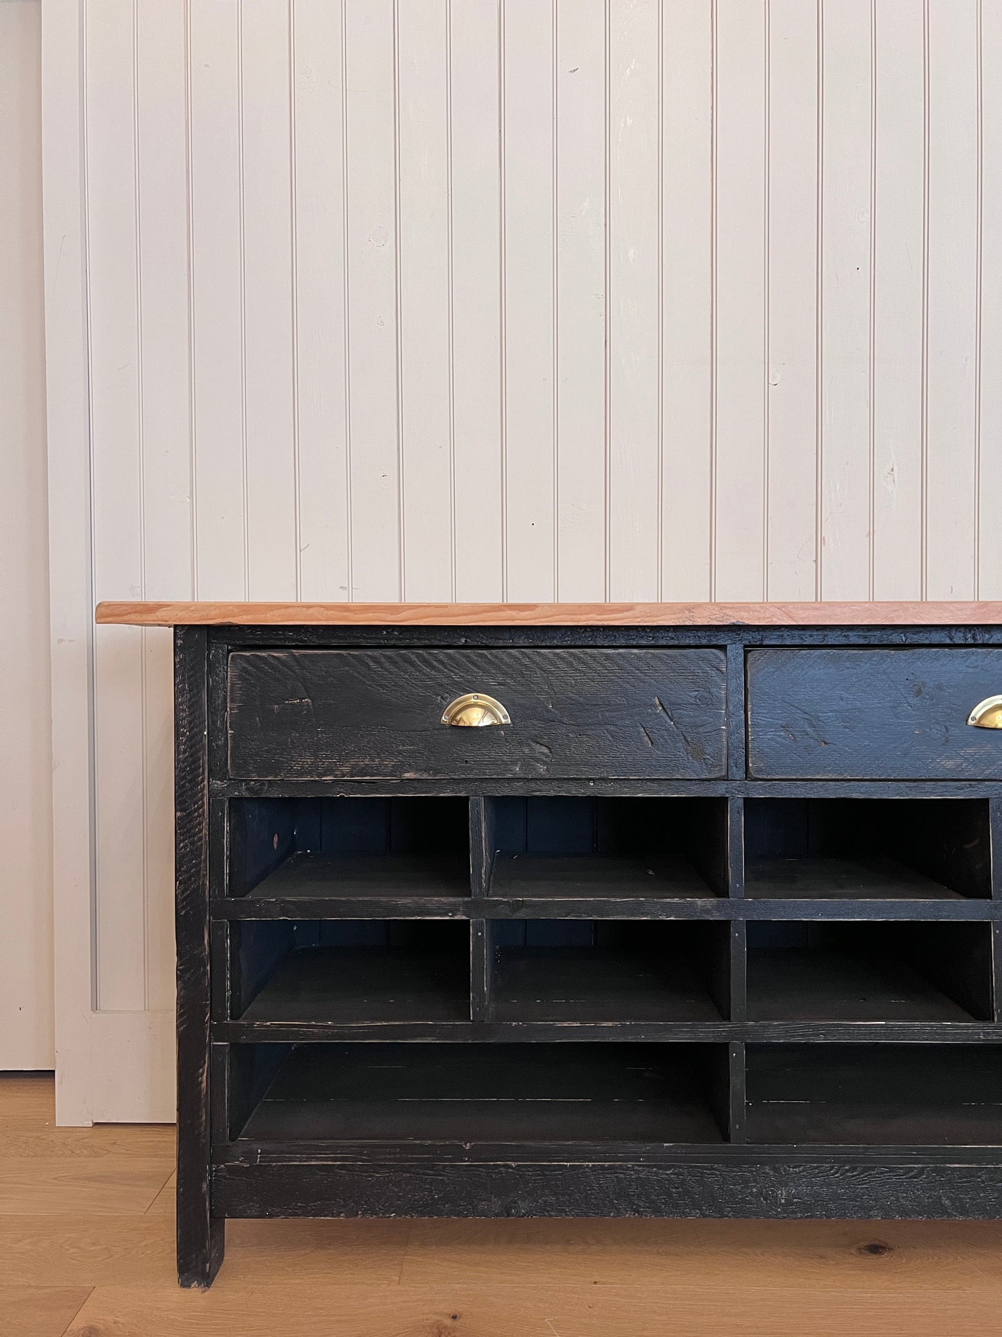
[[[751,650],[747,679],[755,778],[1002,778],[1002,733],[967,725],[1002,650]]]

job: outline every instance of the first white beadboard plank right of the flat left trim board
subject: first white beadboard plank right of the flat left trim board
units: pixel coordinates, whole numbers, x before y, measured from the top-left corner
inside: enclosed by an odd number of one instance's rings
[[[95,598],[143,590],[132,5],[87,5],[87,275]],[[146,1007],[144,664],[136,628],[95,636],[96,999]],[[102,952],[102,940],[115,951]]]

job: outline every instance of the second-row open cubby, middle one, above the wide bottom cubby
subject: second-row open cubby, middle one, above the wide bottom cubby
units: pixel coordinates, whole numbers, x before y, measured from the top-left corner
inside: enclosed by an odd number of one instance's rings
[[[729,924],[493,920],[493,1021],[720,1021]]]

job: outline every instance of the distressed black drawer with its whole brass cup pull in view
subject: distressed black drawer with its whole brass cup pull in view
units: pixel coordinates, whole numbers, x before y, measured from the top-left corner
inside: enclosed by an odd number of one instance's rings
[[[721,650],[254,650],[228,660],[242,779],[713,779],[727,770]],[[466,693],[510,725],[441,723]]]

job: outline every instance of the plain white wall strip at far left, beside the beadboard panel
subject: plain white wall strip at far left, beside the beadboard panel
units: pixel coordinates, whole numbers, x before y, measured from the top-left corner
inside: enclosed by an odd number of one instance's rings
[[[41,5],[0,3],[0,1068],[53,1064]]]

